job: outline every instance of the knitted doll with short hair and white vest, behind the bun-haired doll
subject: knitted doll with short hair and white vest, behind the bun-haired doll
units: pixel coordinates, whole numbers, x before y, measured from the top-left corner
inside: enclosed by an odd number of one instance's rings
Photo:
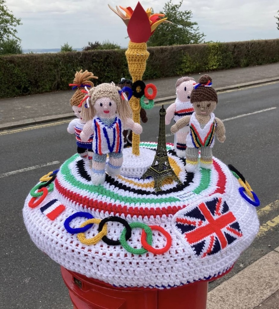
[[[177,122],[183,116],[192,115],[194,108],[190,102],[190,94],[194,83],[195,79],[192,77],[186,76],[178,78],[175,84],[177,97],[175,102],[171,104],[166,110],[166,125],[170,124],[172,118],[174,119],[174,122]],[[186,137],[189,131],[189,125],[186,125],[174,134],[174,148],[176,149],[176,154],[180,158],[185,158]]]

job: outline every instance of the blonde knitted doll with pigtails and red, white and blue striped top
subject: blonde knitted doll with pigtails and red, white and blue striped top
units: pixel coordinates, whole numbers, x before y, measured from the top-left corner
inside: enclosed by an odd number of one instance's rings
[[[98,185],[105,181],[105,169],[112,176],[121,171],[123,130],[131,129],[135,134],[140,134],[142,127],[132,120],[129,101],[122,99],[121,89],[114,83],[98,85],[90,90],[89,95],[90,106],[82,108],[84,120],[88,122],[80,137],[87,140],[94,133],[91,180]],[[106,166],[107,155],[109,162]]]

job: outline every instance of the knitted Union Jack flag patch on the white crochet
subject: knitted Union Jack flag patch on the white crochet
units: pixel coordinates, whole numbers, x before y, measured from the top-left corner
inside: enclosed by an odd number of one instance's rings
[[[239,223],[220,194],[189,206],[175,214],[173,223],[197,257],[216,254],[243,236]]]

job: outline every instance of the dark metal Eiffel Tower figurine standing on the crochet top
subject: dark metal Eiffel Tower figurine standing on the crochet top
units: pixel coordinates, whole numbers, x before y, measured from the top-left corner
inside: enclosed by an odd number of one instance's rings
[[[151,167],[143,174],[142,179],[152,176],[154,179],[154,189],[156,192],[161,191],[161,186],[166,178],[172,178],[178,184],[181,184],[179,178],[175,175],[174,170],[170,166],[169,158],[167,155],[166,135],[165,135],[165,108],[159,111],[160,125],[159,125],[159,138],[157,144],[156,155],[154,157]]]

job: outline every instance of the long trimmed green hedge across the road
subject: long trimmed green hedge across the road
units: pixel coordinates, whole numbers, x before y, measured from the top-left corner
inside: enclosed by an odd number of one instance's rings
[[[279,39],[148,48],[144,79],[279,62]],[[0,98],[68,90],[75,72],[97,83],[129,77],[125,49],[0,56]]]

